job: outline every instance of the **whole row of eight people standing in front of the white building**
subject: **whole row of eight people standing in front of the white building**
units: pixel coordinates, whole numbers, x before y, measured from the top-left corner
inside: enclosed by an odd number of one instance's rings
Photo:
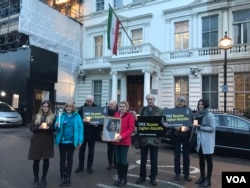
[[[146,95],[147,105],[140,108],[138,114],[141,116],[163,116],[163,109],[155,105],[153,94]],[[176,108],[187,108],[185,97],[179,96]],[[75,173],[84,170],[85,151],[88,146],[87,172],[93,173],[93,160],[95,141],[97,139],[98,125],[90,123],[84,118],[84,107],[95,107],[94,98],[91,95],[86,97],[85,103],[76,111],[73,102],[67,102],[63,112],[57,117],[52,112],[49,101],[43,101],[39,112],[34,116],[30,130],[33,132],[28,159],[33,160],[34,188],[45,188],[47,185],[46,175],[49,169],[49,159],[54,157],[54,140],[59,147],[60,153],[60,186],[71,185],[71,173],[73,166],[73,155],[79,149],[79,164]],[[187,108],[190,110],[189,108]],[[190,110],[190,114],[192,111]],[[131,145],[131,135],[135,130],[136,116],[129,111],[127,101],[119,104],[115,100],[108,103],[108,116],[121,118],[121,125],[118,136],[113,142],[107,142],[108,167],[107,170],[115,168],[118,178],[114,186],[124,186],[127,184],[128,172],[128,150]],[[213,114],[209,112],[209,103],[205,99],[200,99],[197,105],[197,113],[191,115],[192,120],[198,121],[197,126],[186,126],[185,131],[180,127],[173,128],[174,141],[174,172],[175,180],[180,180],[181,175],[181,152],[183,153],[182,173],[186,181],[192,181],[189,175],[190,168],[190,137],[197,135],[196,151],[199,154],[200,178],[195,181],[201,187],[211,185],[211,175],[213,169],[212,154],[215,145],[215,120]],[[168,127],[165,123],[164,126]],[[143,136],[140,142],[140,172],[136,184],[146,181],[147,177],[147,156],[150,152],[150,183],[157,185],[158,175],[158,147],[161,143],[160,137]],[[39,163],[43,160],[42,177],[39,179]],[[207,163],[207,175],[205,175],[205,162]]]

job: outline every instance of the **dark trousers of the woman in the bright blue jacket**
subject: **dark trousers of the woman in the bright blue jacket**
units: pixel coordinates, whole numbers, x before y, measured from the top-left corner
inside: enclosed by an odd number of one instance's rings
[[[59,144],[61,177],[63,177],[64,172],[66,172],[69,177],[71,176],[74,151],[74,144]]]

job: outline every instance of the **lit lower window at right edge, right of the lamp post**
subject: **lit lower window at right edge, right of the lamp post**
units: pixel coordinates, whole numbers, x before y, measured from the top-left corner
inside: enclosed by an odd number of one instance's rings
[[[235,107],[237,110],[250,109],[250,72],[236,73],[235,83]]]

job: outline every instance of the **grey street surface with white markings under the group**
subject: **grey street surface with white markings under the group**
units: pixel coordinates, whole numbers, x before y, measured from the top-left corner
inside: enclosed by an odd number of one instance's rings
[[[27,160],[31,133],[27,127],[0,128],[0,188],[32,188],[33,187],[33,161]],[[74,154],[72,172],[73,188],[112,188],[116,178],[116,171],[107,171],[106,143],[96,142],[93,174],[84,172],[76,174],[74,170],[78,165],[78,151]],[[141,185],[135,184],[139,174],[140,152],[134,148],[129,149],[128,183],[126,188],[152,187],[149,179]],[[190,175],[192,182],[174,180],[173,151],[166,144],[159,148],[159,174],[157,176],[158,188],[196,188],[194,181],[199,178],[198,155],[191,154]],[[149,175],[150,165],[148,165]],[[40,162],[40,174],[42,161]],[[214,156],[214,170],[212,175],[213,188],[221,187],[222,171],[250,171],[250,160],[225,156]],[[50,160],[50,168],[47,176],[48,188],[59,188],[59,152],[55,146],[55,157]]]

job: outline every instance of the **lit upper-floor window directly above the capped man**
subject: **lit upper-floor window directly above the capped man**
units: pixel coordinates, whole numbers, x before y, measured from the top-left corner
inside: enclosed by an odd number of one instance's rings
[[[189,48],[189,22],[176,22],[175,27],[175,50]]]

